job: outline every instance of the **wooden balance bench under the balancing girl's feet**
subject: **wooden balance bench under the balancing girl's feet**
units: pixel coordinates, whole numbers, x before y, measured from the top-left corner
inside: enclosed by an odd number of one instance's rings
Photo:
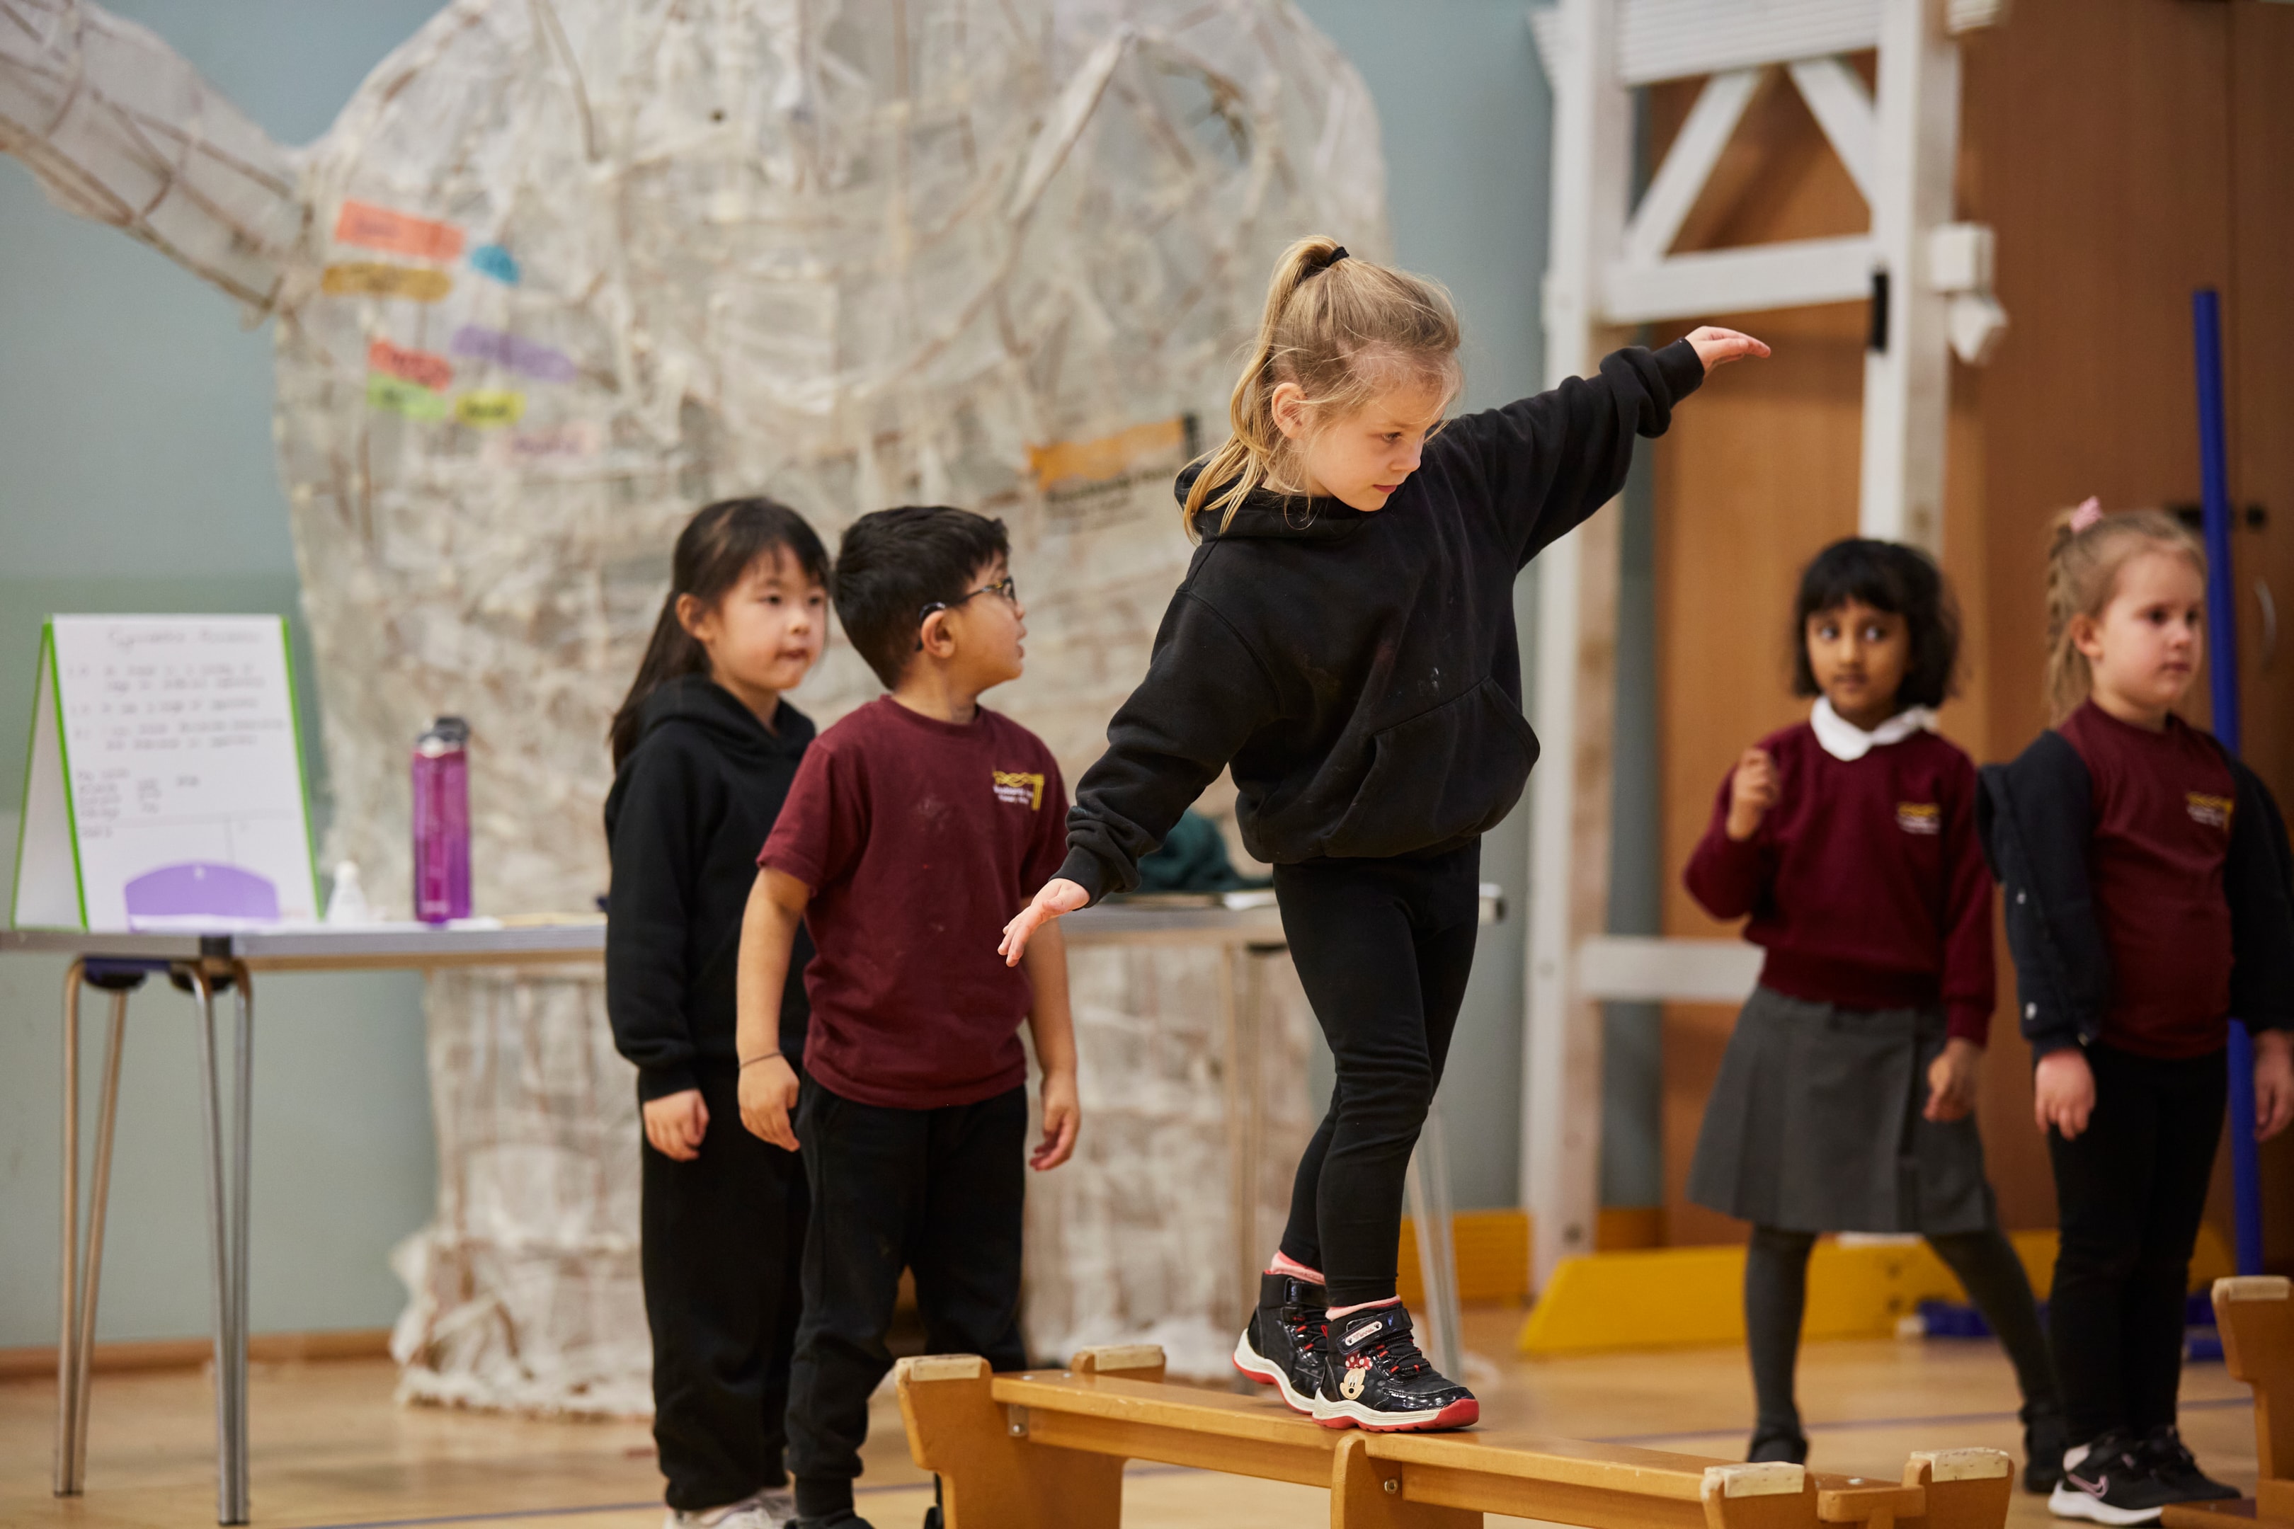
[[[1012,1375],[970,1355],[902,1359],[897,1387],[945,1529],[1119,1529],[1124,1460],[1326,1488],[1333,1529],[1480,1529],[1484,1513],[1585,1529],[2000,1529],[2014,1488],[1996,1449],[1915,1453],[1886,1483],[1498,1428],[1337,1430],[1273,1396],[1163,1385],[1152,1346]]]

